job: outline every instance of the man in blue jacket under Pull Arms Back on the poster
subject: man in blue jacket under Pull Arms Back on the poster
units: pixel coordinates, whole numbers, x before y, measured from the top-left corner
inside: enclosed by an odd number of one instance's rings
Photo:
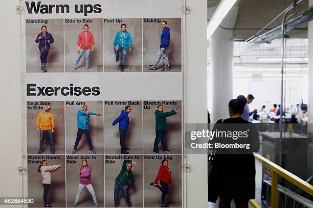
[[[121,114],[119,117],[117,117],[113,121],[113,125],[116,125],[119,123],[119,129],[120,129],[120,145],[121,145],[121,153],[122,154],[128,154],[129,152],[126,150],[129,150],[129,148],[126,147],[125,145],[125,140],[126,140],[126,133],[129,125],[129,117],[128,114],[130,114],[131,108],[130,106],[126,106],[125,110],[121,111]]]

